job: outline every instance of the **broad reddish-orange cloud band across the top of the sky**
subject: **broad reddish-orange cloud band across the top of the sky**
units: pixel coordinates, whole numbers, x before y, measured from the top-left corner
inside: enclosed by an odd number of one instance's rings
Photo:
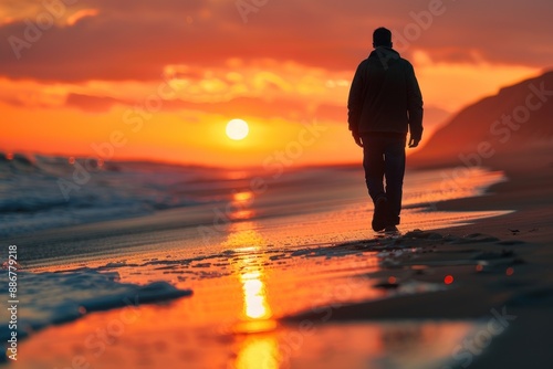
[[[46,11],[39,1],[27,8],[17,3],[9,2],[18,11],[0,22],[0,39],[25,41],[29,24]],[[1,43],[0,73],[50,82],[154,81],[168,64],[221,67],[233,57],[351,71],[368,53],[378,25],[409,41],[406,56],[424,50],[444,62],[471,63],[480,55],[490,63],[530,66],[553,60],[551,1],[507,0],[498,17],[497,2],[444,0],[445,11],[425,21],[430,3],[269,1],[244,23],[233,1],[82,1],[67,6],[62,17],[79,21],[39,29],[40,36],[19,50],[20,59],[13,44]]]

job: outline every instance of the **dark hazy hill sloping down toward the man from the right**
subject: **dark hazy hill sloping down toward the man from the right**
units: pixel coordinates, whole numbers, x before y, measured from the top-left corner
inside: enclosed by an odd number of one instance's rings
[[[501,168],[504,160],[531,158],[532,152],[549,152],[553,159],[553,72],[462,109],[408,161],[409,167],[480,162]]]

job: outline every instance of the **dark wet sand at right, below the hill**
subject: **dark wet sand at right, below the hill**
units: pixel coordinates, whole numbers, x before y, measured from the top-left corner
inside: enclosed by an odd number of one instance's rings
[[[383,288],[397,288],[403,281],[411,280],[444,282],[450,288],[342,306],[332,310],[330,320],[478,319],[487,326],[461,340],[445,368],[551,368],[551,159],[549,155],[497,159],[490,165],[504,170],[509,181],[492,186],[483,197],[436,204],[440,211],[515,212],[435,232],[411,232],[390,241],[392,249],[411,243],[420,246],[421,253],[416,260],[413,255],[394,257],[380,272]],[[419,268],[414,271],[414,265]],[[306,312],[288,319],[315,316]],[[495,334],[499,330],[501,334]]]

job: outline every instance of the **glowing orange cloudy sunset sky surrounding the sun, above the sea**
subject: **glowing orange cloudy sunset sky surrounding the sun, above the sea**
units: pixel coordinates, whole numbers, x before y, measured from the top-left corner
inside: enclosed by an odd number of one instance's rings
[[[349,81],[376,27],[415,66],[426,133],[551,66],[551,1],[0,3],[0,150],[217,166],[361,160]],[[250,124],[226,137],[232,118]]]

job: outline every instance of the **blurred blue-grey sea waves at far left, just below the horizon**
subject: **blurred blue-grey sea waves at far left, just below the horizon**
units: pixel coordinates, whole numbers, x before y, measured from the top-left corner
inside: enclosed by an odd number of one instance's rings
[[[202,203],[197,177],[171,165],[0,154],[0,236]]]

